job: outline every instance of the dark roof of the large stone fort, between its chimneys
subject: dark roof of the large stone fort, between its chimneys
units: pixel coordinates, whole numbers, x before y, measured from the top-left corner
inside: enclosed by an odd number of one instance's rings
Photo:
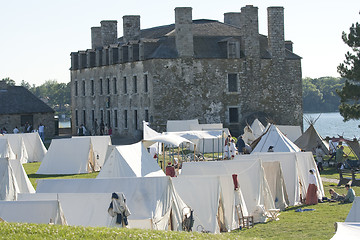
[[[192,32],[195,58],[227,58],[226,41],[228,39],[240,41],[240,56],[244,56],[241,30],[236,26],[217,20],[199,19],[193,20]],[[146,48],[151,49],[146,51],[146,59],[178,57],[175,44],[175,24],[142,29],[140,38]],[[118,41],[123,43],[123,37],[120,37]],[[270,59],[271,54],[268,51],[267,36],[259,34],[259,43],[261,58]],[[285,56],[287,59],[301,59],[301,57],[287,49]]]

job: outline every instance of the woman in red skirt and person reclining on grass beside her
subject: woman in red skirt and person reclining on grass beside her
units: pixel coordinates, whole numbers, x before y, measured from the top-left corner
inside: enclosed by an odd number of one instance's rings
[[[309,186],[306,192],[305,203],[307,205],[315,205],[318,202],[322,202],[318,194],[318,181],[315,176],[315,169],[309,170]],[[350,184],[345,185],[347,191],[346,195],[339,195],[333,188],[330,188],[330,200],[331,202],[339,201],[341,203],[352,203],[355,200],[355,191],[351,188]]]

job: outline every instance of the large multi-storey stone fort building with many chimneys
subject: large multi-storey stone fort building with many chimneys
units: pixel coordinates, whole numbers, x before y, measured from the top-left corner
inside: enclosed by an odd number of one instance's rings
[[[113,134],[139,137],[142,121],[223,123],[233,135],[254,117],[302,126],[301,57],[284,39],[284,9],[269,7],[268,36],[258,8],[224,14],[224,23],[193,20],[175,9],[175,24],[140,28],[140,16],[91,28],[92,48],[71,53],[73,134],[95,119]]]

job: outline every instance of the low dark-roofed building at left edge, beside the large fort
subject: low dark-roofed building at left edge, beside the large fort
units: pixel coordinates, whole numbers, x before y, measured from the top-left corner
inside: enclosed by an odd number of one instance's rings
[[[21,86],[11,86],[0,81],[0,128],[6,128],[8,133],[13,129],[31,124],[37,130],[39,124],[45,126],[45,138],[55,135],[55,111],[41,101],[29,90]]]

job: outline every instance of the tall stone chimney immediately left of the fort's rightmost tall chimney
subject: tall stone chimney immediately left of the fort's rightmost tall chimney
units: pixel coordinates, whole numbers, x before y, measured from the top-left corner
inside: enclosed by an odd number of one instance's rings
[[[246,5],[241,8],[240,31],[244,40],[245,57],[260,58],[258,8]]]

